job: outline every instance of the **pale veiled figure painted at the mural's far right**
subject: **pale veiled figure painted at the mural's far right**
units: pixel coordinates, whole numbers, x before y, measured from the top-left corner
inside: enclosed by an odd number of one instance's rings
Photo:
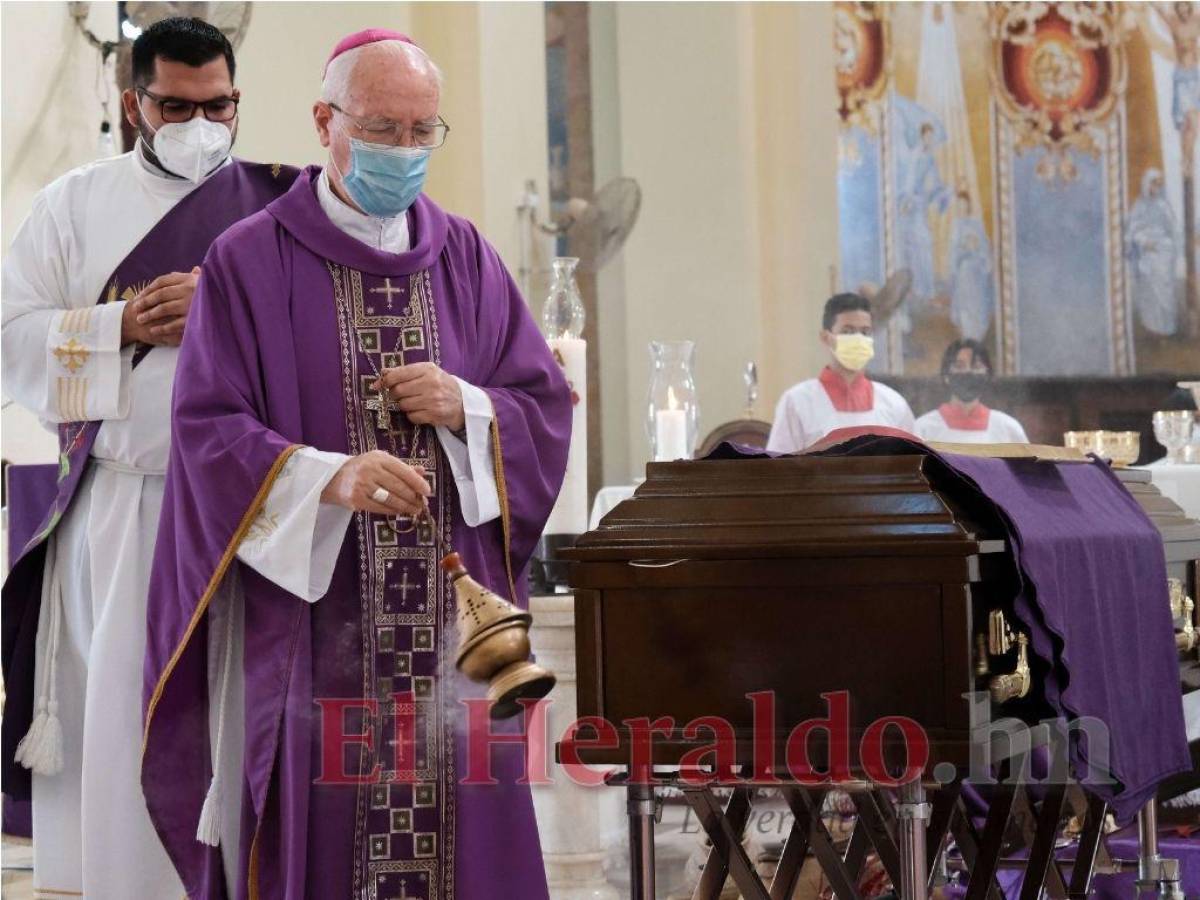
[[[1141,193],[1129,214],[1126,254],[1138,316],[1156,335],[1174,335],[1178,329],[1177,253],[1175,214],[1163,191],[1163,173],[1146,169],[1141,176]]]

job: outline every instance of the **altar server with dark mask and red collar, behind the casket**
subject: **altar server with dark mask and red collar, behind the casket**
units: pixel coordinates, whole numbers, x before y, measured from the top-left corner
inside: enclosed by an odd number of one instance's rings
[[[942,380],[950,400],[917,420],[917,434],[949,444],[1027,444],[1016,419],[979,400],[991,374],[991,356],[982,343],[971,338],[950,343],[942,355]]]

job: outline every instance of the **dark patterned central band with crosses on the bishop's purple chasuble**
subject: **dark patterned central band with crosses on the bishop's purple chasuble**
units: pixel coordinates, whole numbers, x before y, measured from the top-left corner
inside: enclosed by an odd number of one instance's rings
[[[455,722],[448,710],[456,706],[456,690],[445,647],[454,635],[456,606],[438,562],[451,539],[454,478],[433,428],[414,427],[397,409],[380,410],[378,392],[368,388],[385,367],[442,364],[437,311],[427,270],[390,278],[328,265],[348,452],[391,451],[395,444],[398,458],[424,468],[433,487],[433,524],[401,520],[397,529],[382,516],[356,514],[352,528],[358,538],[358,595],[347,598],[349,605],[337,606],[326,596],[313,607],[313,696],[373,698],[379,704],[378,733],[396,734],[400,719],[412,728],[413,742],[398,760],[385,740],[373,756],[358,755],[356,774],[379,763],[377,782],[325,788],[332,792],[328,802],[344,817],[311,818],[317,834],[310,836],[310,850],[346,839],[320,835],[322,822],[342,832],[353,820],[353,882],[341,886],[344,895],[452,898],[456,758]],[[335,650],[355,631],[362,668],[352,686]],[[330,646],[323,648],[324,641]]]

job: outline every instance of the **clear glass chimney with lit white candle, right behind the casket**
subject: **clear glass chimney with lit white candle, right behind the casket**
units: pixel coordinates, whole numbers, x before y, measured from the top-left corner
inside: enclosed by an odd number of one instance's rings
[[[646,433],[655,462],[690,460],[696,450],[700,406],[691,341],[650,341]]]

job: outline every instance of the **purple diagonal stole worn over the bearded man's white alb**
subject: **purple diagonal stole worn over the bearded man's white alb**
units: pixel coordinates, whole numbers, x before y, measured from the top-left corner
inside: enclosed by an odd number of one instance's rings
[[[234,160],[175,204],[151,228],[109,277],[96,302],[132,300],[151,281],[168,272],[186,272],[200,265],[209,245],[229,226],[262,210],[284,193],[299,170],[290,166]],[[139,346],[133,365],[152,348]],[[59,475],[54,502],[14,558],[4,583],[2,662],[6,690],[2,727],[4,792],[17,798],[30,794],[29,770],[13,755],[29,730],[34,713],[34,655],[41,610],[46,540],[62,520],[91,461],[100,421],[59,426]]]

